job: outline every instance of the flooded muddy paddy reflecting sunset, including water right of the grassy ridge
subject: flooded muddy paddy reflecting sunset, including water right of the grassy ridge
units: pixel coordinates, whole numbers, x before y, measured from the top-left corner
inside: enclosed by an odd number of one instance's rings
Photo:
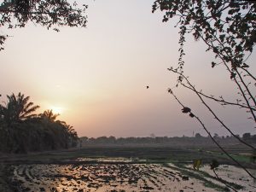
[[[12,184],[18,191],[227,191],[209,166],[201,171],[189,165],[130,162],[129,159],[84,160],[79,164],[12,166]],[[238,191],[255,191],[256,183],[235,166],[220,166],[220,177]],[[238,174],[240,176],[238,177]]]

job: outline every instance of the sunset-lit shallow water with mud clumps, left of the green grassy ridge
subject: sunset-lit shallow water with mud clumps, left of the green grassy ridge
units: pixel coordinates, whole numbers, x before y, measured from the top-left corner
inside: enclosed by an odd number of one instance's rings
[[[87,163],[14,166],[13,181],[20,191],[216,191],[185,177],[171,164],[138,164],[119,158],[91,164],[91,159],[81,160]]]

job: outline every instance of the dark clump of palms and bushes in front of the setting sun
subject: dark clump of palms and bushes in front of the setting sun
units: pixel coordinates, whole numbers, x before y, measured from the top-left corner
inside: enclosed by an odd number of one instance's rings
[[[35,113],[39,108],[30,97],[19,93],[7,96],[0,104],[0,151],[26,153],[70,148],[77,145],[78,135],[73,126],[57,120],[52,110]]]

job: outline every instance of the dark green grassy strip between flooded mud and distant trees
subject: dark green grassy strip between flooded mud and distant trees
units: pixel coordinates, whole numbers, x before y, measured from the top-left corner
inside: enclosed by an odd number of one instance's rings
[[[212,150],[210,150],[212,149]],[[232,152],[234,149],[232,148]],[[246,162],[250,166],[250,159],[246,155],[234,153],[234,158]],[[15,155],[12,159],[0,158],[0,162],[11,163],[54,163],[63,160],[74,161],[77,158],[139,158],[147,160],[148,163],[191,163],[193,160],[201,159],[204,163],[210,163],[212,159],[218,160],[220,164],[236,165],[225,154],[219,152],[218,148],[170,148],[170,147],[90,147],[71,150],[50,151],[34,154]]]

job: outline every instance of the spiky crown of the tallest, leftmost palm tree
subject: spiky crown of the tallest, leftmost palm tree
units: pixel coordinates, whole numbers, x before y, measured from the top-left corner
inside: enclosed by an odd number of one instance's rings
[[[13,93],[7,96],[7,98],[9,101],[5,106],[0,105],[0,115],[8,125],[36,116],[33,112],[35,112],[39,106],[34,105],[33,102],[28,102],[29,96],[24,96],[24,94],[21,93],[15,96]]]

